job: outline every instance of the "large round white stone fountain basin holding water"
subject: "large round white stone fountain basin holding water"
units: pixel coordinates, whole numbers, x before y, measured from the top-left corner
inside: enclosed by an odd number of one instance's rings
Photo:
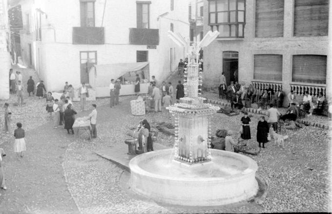
[[[212,160],[188,166],[174,150],[136,156],[129,162],[131,190],[157,202],[218,206],[249,200],[258,191],[257,163],[234,152],[211,149]]]

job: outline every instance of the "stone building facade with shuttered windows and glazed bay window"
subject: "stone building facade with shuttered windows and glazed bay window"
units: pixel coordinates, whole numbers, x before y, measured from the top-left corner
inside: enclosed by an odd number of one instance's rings
[[[205,0],[204,31],[218,30],[220,37],[204,49],[203,84],[218,86],[224,72],[228,85],[235,79],[260,89],[282,89],[285,95],[291,89],[299,97],[306,90],[314,96],[325,94],[328,4],[328,0]]]

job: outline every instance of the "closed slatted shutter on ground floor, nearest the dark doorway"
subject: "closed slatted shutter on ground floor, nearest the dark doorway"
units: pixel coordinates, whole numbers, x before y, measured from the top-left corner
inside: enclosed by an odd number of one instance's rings
[[[255,54],[253,64],[254,79],[282,81],[282,55]]]

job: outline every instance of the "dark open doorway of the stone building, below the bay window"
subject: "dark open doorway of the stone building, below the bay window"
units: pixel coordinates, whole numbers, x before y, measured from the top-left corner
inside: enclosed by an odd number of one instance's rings
[[[229,86],[230,81],[239,80],[239,53],[237,51],[223,52],[223,72],[226,77],[226,84]]]

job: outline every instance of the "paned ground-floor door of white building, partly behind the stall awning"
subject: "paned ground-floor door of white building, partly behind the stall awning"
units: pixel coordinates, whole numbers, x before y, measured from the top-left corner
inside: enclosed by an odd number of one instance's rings
[[[89,83],[89,71],[94,65],[97,65],[97,52],[81,51],[80,52],[81,83]]]

